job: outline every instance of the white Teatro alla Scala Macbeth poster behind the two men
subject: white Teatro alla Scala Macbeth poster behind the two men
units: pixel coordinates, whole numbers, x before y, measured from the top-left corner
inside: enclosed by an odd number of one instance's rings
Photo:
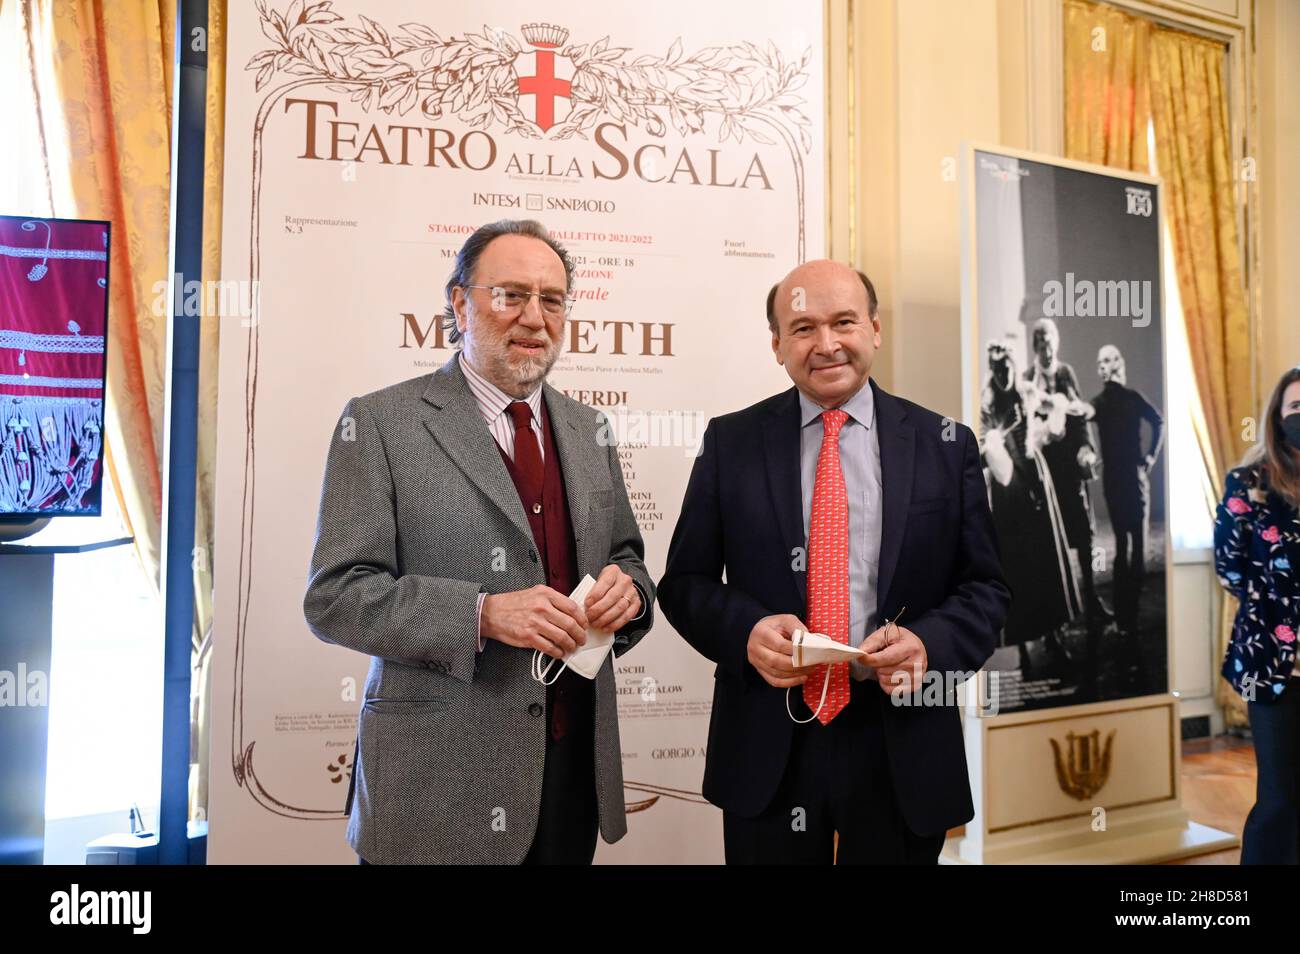
[[[257,307],[221,338],[211,860],[355,860],[368,658],[302,612],[325,452],[348,398],[450,356],[478,225],[573,252],[550,381],[610,415],[663,572],[707,420],[789,386],[763,302],[824,255],[823,49],[822,5],[775,0],[231,4],[222,278]],[[722,860],[712,668],[662,621],[619,660],[629,834],[598,860]]]

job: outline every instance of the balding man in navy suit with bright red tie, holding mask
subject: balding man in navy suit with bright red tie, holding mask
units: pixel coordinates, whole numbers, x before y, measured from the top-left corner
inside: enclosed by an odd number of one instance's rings
[[[952,689],[1010,606],[979,447],[871,381],[861,272],[800,265],[767,320],[794,387],[710,421],[659,584],[718,664],[703,794],[728,863],[932,864],[974,815]],[[800,629],[864,655],[796,665]]]

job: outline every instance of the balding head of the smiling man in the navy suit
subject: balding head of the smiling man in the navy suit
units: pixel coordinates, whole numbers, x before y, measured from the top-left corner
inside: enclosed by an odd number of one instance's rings
[[[807,261],[767,294],[772,354],[794,386],[824,408],[838,407],[871,376],[880,347],[876,291],[838,261]]]

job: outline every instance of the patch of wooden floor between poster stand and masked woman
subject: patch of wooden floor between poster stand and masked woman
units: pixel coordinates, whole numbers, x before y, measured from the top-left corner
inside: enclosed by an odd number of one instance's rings
[[[1254,749],[1218,736],[1183,742],[1183,808],[1192,821],[1240,837],[1254,805]],[[1214,851],[1171,864],[1239,864],[1242,850]]]

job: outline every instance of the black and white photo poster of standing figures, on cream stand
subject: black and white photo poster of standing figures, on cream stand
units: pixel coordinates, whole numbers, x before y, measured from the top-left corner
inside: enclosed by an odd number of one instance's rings
[[[975,149],[966,400],[1014,602],[998,712],[1167,690],[1160,188]]]

